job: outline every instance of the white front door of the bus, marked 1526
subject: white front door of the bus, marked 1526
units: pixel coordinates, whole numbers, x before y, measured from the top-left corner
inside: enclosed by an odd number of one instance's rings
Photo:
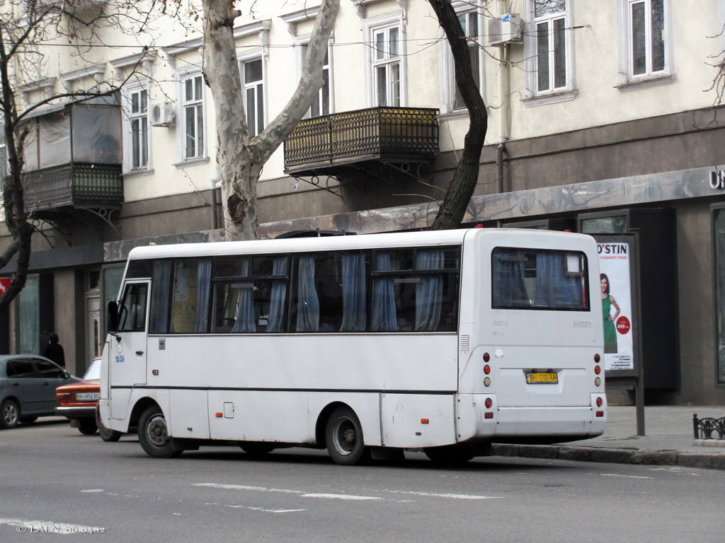
[[[126,282],[118,308],[118,330],[109,345],[111,418],[125,418],[133,387],[146,384],[148,302],[148,281]]]

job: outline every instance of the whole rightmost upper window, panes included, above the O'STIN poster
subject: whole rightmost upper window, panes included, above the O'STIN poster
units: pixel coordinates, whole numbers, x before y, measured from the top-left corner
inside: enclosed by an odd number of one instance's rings
[[[618,86],[670,83],[670,0],[619,0],[618,17]]]

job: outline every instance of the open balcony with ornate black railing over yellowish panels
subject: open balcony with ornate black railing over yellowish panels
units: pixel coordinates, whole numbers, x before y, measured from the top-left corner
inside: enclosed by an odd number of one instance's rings
[[[376,107],[304,119],[284,142],[284,172],[334,175],[364,163],[431,163],[438,110]]]

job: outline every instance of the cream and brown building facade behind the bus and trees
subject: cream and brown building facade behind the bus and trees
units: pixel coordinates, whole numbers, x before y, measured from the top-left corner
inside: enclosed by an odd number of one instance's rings
[[[239,2],[234,35],[255,135],[291,97],[318,4],[249,4]],[[636,232],[649,400],[716,404],[725,402],[725,1],[686,4],[454,0],[489,109],[462,226]],[[104,341],[103,308],[130,248],[223,239],[196,27],[170,19],[138,46],[67,49],[22,87],[29,106],[48,88],[124,82],[103,101],[36,111],[26,193],[38,233],[28,287],[0,317],[5,350],[38,352],[55,330],[80,373]],[[124,40],[112,29],[102,38]],[[326,85],[258,184],[262,237],[428,227],[468,130],[453,72],[426,0],[341,0]],[[65,154],[57,133],[72,135]],[[51,179],[72,194],[49,193]],[[75,190],[88,185],[89,196]]]

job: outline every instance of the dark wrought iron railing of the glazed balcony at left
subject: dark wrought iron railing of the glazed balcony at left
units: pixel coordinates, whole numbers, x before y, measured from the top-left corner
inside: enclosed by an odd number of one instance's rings
[[[23,176],[25,211],[59,208],[120,208],[120,164],[64,164]]]

